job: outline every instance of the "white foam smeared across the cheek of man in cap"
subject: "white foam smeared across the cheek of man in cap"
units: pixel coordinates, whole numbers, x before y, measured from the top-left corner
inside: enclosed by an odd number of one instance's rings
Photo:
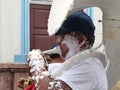
[[[65,60],[67,60],[68,58],[70,58],[71,56],[73,56],[74,54],[80,51],[79,50],[80,45],[78,40],[75,37],[72,37],[70,35],[66,35],[64,37],[62,44],[66,44],[67,47],[69,48],[69,51],[66,54]]]

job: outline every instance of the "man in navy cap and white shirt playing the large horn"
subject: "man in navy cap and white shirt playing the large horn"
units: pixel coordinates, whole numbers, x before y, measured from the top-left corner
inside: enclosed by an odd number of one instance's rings
[[[64,21],[55,35],[65,62],[61,69],[58,67],[39,80],[38,90],[107,90],[106,72],[100,60],[79,56],[93,46],[94,30],[91,18],[84,12],[75,12]]]

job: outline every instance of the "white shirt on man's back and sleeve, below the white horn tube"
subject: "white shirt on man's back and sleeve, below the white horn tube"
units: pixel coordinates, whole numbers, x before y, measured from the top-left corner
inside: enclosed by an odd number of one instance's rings
[[[64,71],[57,79],[67,83],[72,90],[108,90],[104,67],[94,57],[79,60],[79,63]]]

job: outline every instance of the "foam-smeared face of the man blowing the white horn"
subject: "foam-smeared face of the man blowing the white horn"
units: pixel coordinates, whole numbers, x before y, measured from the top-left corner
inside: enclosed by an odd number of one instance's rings
[[[58,36],[57,44],[60,46],[62,57],[65,59],[68,59],[79,52],[78,40],[69,34]]]

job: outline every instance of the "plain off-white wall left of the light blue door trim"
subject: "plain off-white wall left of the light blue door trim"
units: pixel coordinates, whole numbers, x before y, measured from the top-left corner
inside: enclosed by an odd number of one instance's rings
[[[0,63],[13,62],[21,49],[21,0],[0,0]]]

